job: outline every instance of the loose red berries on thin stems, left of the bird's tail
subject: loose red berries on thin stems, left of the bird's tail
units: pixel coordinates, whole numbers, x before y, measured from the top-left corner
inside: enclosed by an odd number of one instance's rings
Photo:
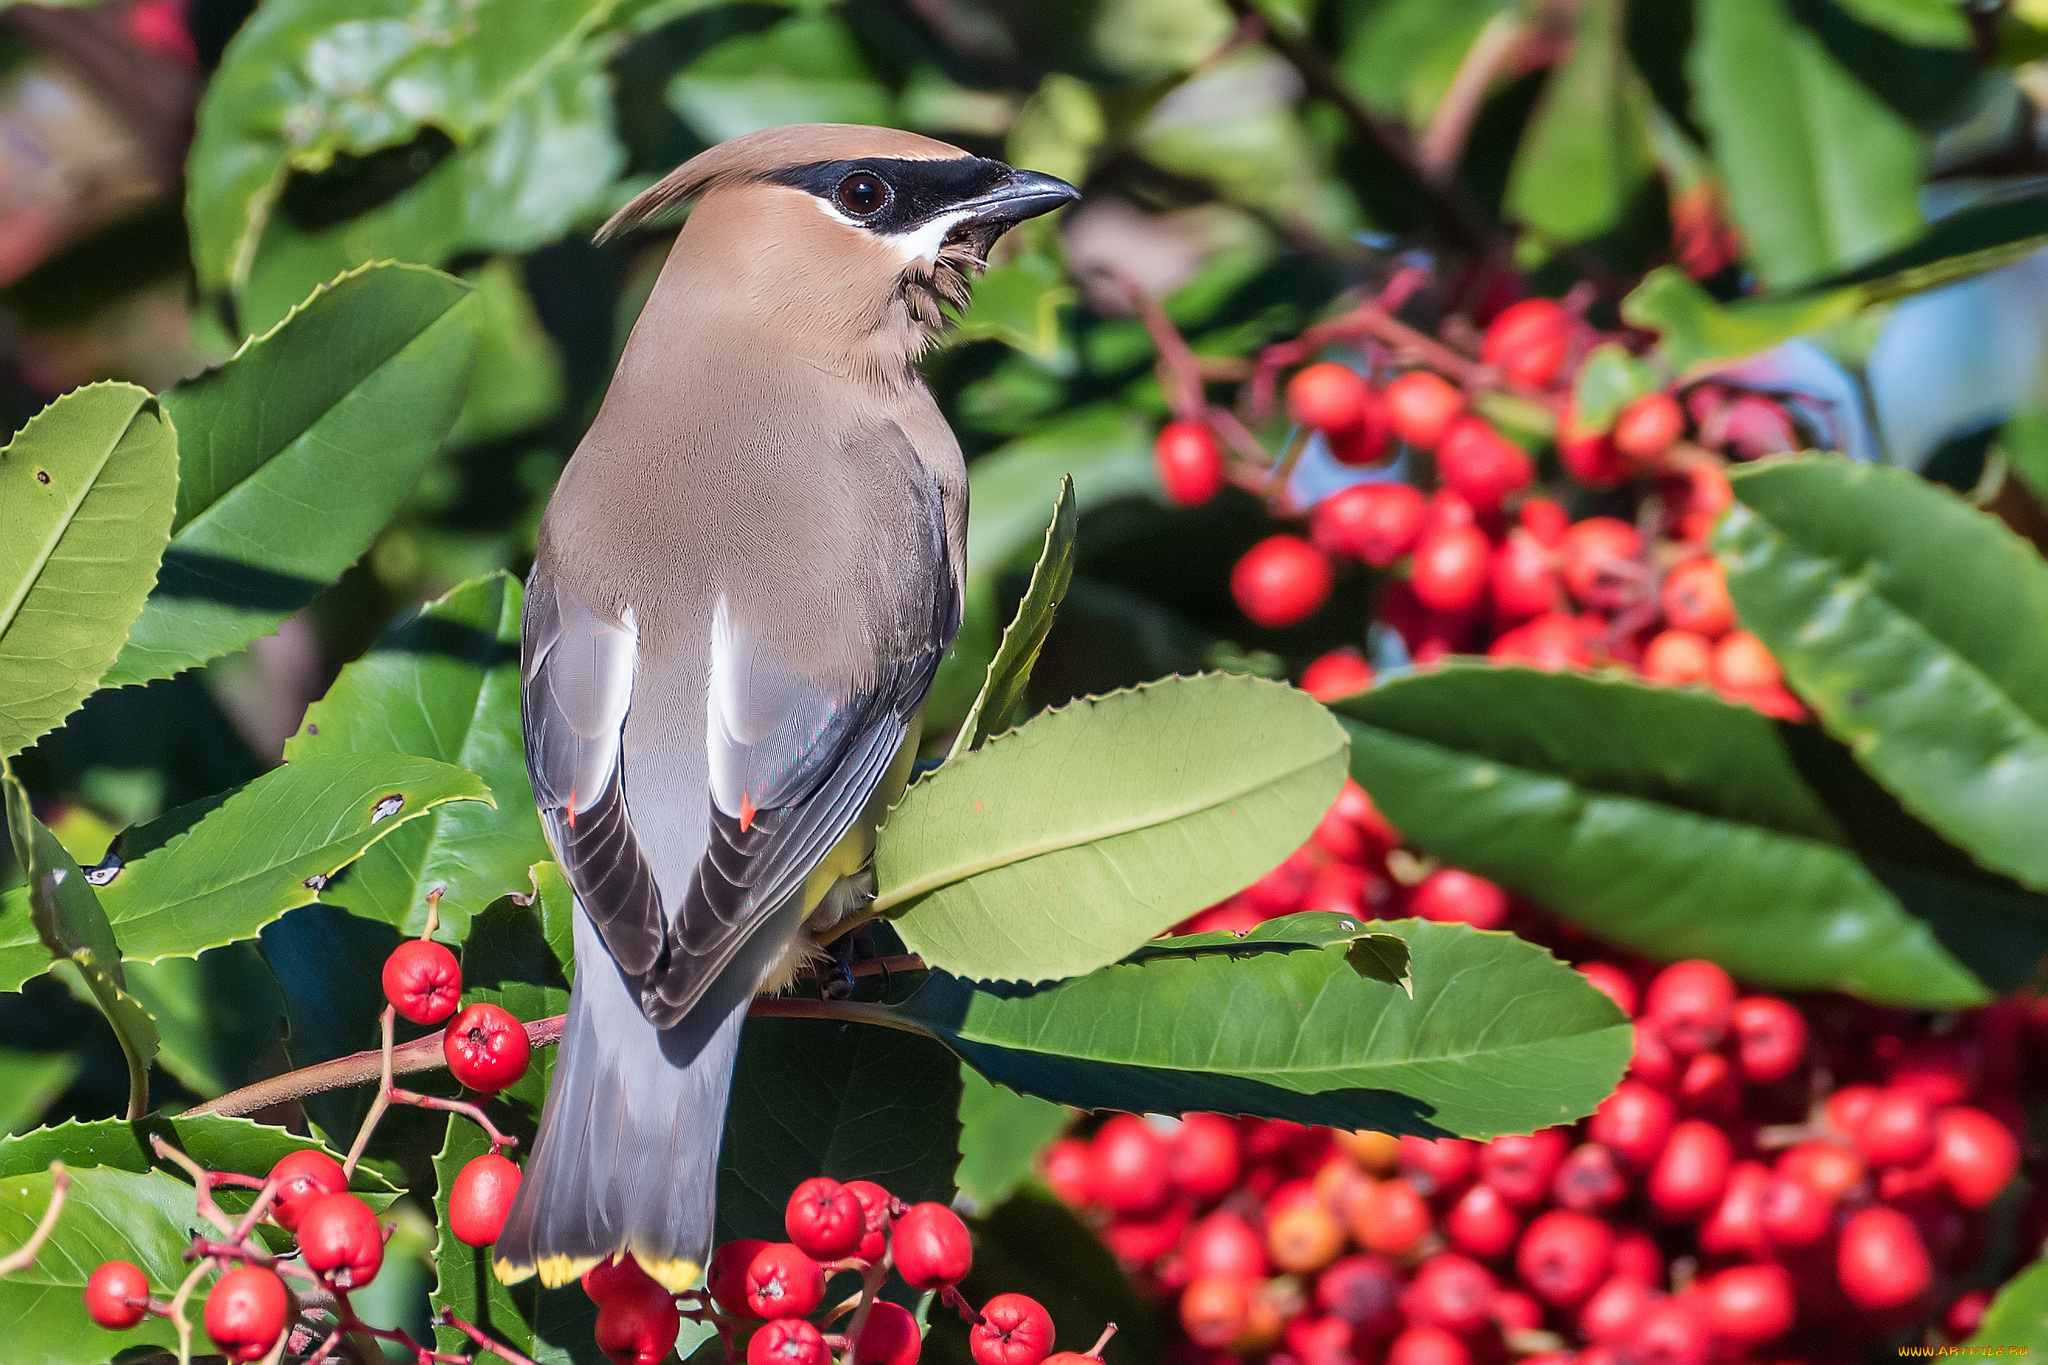
[[[442,1036],[449,1070],[479,1093],[496,1093],[526,1072],[526,1029],[498,1005],[471,1005],[457,1013],[463,972],[455,954],[430,939],[401,943],[383,968],[385,999],[414,1023],[449,1019]],[[219,1179],[219,1177],[215,1177]],[[518,1166],[496,1150],[467,1162],[449,1189],[449,1230],[471,1246],[498,1240],[518,1193]],[[348,1293],[377,1279],[383,1269],[387,1230],[377,1214],[348,1193],[342,1162],[319,1150],[285,1154],[266,1181],[268,1220],[297,1238],[299,1265],[336,1293]],[[209,1254],[242,1254],[207,1291],[205,1326],[213,1347],[229,1361],[260,1361],[297,1316],[291,1289],[268,1257],[221,1246]],[[152,1302],[141,1267],[109,1261],[86,1279],[86,1314],[102,1328],[127,1330],[147,1314],[168,1314],[168,1304]]]

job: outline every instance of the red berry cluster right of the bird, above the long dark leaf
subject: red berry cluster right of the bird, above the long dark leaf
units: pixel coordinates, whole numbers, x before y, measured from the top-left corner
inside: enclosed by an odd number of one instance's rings
[[[1354,356],[1362,368],[1323,360],[1298,370],[1286,387],[1288,413],[1321,432],[1339,463],[1378,465],[1399,440],[1417,467],[1434,465],[1436,487],[1354,483],[1317,501],[1307,534],[1268,536],[1237,561],[1231,589],[1245,616],[1274,628],[1305,622],[1329,600],[1339,567],[1358,563],[1393,575],[1376,614],[1417,663],[1485,653],[1548,669],[1622,665],[1798,718],[1769,651],[1735,628],[1726,581],[1706,548],[1731,501],[1726,458],[1792,448],[1790,417],[1769,399],[1698,385],[1683,405],[1655,391],[1606,426],[1581,424],[1571,387],[1593,340],[1563,305],[1524,299],[1479,338],[1477,364],[1462,372],[1470,389],[1432,368],[1399,368],[1370,348]],[[1559,487],[1640,481],[1636,520],[1573,520],[1540,495],[1528,450],[1470,409],[1483,387],[1548,407]],[[1776,413],[1769,440],[1759,409]],[[1167,424],[1155,456],[1184,505],[1223,487],[1223,452],[1204,420]],[[1348,649],[1303,675],[1325,700],[1370,681],[1364,657]]]

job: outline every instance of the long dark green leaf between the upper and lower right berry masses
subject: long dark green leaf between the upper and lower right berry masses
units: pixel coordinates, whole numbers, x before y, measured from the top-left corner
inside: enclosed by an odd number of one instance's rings
[[[2036,898],[1944,860],[1810,726],[1487,665],[1386,679],[1339,710],[1354,776],[1415,843],[1651,958],[1968,1005],[2048,943]]]

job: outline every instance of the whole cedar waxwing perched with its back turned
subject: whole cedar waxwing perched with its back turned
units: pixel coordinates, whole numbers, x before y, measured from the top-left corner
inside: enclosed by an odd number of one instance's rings
[[[752,133],[602,235],[696,207],[526,579],[526,767],[575,986],[498,1277],[713,1240],[748,1001],[872,898],[961,626],[967,469],[918,375],[989,246],[1077,190],[891,129]]]

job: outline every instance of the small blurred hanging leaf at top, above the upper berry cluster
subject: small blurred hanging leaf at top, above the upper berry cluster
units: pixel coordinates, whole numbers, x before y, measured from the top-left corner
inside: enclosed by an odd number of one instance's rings
[[[1507,213],[1563,241],[1620,225],[1651,176],[1647,98],[1622,47],[1622,0],[1589,0],[1522,135]]]

